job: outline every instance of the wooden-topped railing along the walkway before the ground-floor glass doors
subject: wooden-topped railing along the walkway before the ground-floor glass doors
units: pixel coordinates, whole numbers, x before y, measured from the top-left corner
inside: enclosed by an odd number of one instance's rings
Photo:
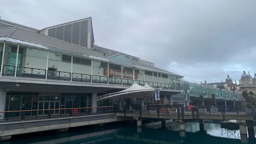
[[[115,106],[0,111],[0,116],[1,116],[0,122],[86,116],[86,115],[114,113],[114,112],[116,112]]]

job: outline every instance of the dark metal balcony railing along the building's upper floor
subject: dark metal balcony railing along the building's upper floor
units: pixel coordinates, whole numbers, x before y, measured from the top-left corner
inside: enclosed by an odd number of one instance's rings
[[[16,76],[25,76],[31,78],[47,78],[48,79],[56,79],[56,80],[72,80],[72,81],[81,81],[81,82],[94,82],[94,83],[109,83],[109,84],[123,84],[123,85],[132,85],[133,79],[127,78],[115,78],[112,76],[97,76],[97,75],[90,75],[90,74],[79,74],[79,73],[72,73],[71,72],[62,72],[62,71],[52,71],[38,68],[27,68],[17,66],[17,75]],[[3,66],[3,75],[11,75],[14,76],[15,74],[15,66],[4,65]],[[135,80],[137,84],[140,86],[144,86],[148,84],[152,88],[164,88],[164,89],[173,89],[181,90],[180,84],[164,84],[159,82],[148,82],[144,80]]]

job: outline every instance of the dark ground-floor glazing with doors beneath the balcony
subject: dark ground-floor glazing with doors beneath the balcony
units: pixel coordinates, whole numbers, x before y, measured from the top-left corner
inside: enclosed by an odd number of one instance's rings
[[[91,94],[58,94],[46,95],[33,92],[8,92],[5,111],[42,110],[25,112],[25,116],[40,116],[48,114],[48,109],[59,108],[86,108],[91,107]],[[108,100],[106,106],[114,106],[118,100]],[[102,101],[98,106],[103,106]],[[78,109],[78,113],[86,109]],[[70,110],[53,110],[51,114],[70,114]],[[19,117],[20,112],[9,112],[8,118]],[[7,117],[7,114],[5,114]]]

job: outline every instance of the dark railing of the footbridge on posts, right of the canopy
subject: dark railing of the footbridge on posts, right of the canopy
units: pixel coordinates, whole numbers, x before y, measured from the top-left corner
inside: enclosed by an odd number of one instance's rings
[[[161,114],[178,115],[178,119],[183,118],[184,115],[198,116],[205,115],[248,115],[254,116],[256,120],[256,106],[195,106],[184,107],[182,104],[176,105],[148,105],[148,106],[123,106],[117,107],[116,112],[124,113],[140,113],[141,114],[157,114],[158,118]]]

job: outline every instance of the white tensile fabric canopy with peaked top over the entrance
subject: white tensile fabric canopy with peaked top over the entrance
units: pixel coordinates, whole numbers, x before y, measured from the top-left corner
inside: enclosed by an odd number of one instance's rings
[[[146,96],[152,95],[152,92],[154,92],[154,88],[140,86],[136,82],[134,82],[130,88],[121,90],[120,92],[97,96],[97,101],[110,98],[145,98]]]

